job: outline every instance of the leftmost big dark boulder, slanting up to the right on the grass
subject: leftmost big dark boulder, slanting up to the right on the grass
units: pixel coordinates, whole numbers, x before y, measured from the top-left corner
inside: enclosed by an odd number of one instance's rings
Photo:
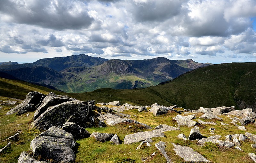
[[[46,95],[39,92],[29,92],[26,99],[16,107],[12,108],[6,115],[17,113],[17,115],[26,113],[28,111],[35,111],[36,108],[41,104]]]

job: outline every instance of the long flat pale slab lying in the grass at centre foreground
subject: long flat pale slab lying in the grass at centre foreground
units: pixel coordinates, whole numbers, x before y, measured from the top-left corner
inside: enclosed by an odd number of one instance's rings
[[[164,137],[164,133],[153,130],[153,131],[137,132],[134,134],[126,135],[124,136],[124,144],[141,142],[143,140],[146,140],[147,138],[153,138],[153,137]]]

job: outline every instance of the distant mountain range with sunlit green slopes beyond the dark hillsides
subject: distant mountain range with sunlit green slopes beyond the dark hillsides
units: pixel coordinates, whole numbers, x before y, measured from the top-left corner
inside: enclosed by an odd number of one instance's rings
[[[6,62],[7,63],[7,62]],[[39,83],[65,92],[88,92],[101,88],[146,88],[172,80],[198,67],[209,66],[189,60],[164,57],[120,60],[76,55],[45,58],[34,63],[0,64],[0,72],[23,81]]]

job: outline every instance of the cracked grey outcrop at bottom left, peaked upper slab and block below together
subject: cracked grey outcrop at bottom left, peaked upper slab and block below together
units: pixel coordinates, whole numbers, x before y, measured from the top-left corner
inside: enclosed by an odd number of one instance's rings
[[[55,162],[73,162],[75,153],[72,148],[75,144],[74,136],[55,126],[36,136],[31,141],[30,148],[33,156],[44,159],[53,159]]]

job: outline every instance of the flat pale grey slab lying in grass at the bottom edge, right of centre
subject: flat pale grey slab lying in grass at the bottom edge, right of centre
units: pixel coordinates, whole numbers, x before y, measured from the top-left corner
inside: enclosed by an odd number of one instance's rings
[[[186,162],[211,162],[190,147],[180,146],[174,143],[172,143],[172,145],[174,146],[173,150],[176,152],[176,154]]]

